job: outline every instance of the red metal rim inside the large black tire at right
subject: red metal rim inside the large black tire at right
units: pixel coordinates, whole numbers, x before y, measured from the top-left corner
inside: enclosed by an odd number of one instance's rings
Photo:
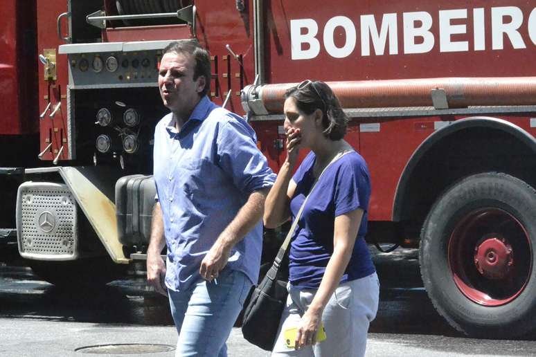
[[[514,300],[525,289],[532,271],[532,246],[526,229],[499,208],[466,214],[452,231],[447,254],[458,289],[483,306]]]

